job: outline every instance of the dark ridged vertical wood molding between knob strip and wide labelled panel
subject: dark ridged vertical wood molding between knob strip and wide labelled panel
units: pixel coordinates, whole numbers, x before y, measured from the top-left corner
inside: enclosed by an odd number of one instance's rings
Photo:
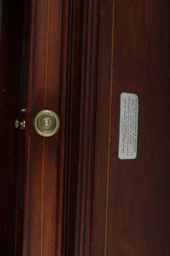
[[[72,1],[65,255],[90,255],[99,1]]]

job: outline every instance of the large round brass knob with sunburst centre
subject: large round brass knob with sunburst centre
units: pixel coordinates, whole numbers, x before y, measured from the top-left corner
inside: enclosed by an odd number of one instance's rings
[[[59,130],[59,116],[52,110],[44,109],[35,115],[33,125],[42,137],[53,136]]]

